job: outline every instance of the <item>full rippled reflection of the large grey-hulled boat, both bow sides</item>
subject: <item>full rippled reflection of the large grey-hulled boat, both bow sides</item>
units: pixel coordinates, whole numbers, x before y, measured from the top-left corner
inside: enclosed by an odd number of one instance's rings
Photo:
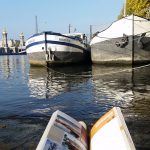
[[[146,104],[150,96],[150,67],[92,66],[92,74],[97,102],[120,106],[128,116],[143,117],[149,112],[149,106],[141,107],[141,100]]]

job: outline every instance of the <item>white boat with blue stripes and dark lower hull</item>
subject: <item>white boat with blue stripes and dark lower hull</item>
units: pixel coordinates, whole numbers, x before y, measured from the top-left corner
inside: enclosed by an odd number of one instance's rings
[[[88,59],[89,55],[83,33],[38,33],[26,41],[26,51],[33,65],[80,63]]]

